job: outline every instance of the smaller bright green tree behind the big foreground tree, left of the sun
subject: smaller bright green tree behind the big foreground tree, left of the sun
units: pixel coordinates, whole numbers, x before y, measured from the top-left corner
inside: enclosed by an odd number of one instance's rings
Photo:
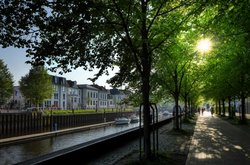
[[[160,54],[160,60],[156,65],[155,77],[157,84],[161,87],[160,92],[173,97],[175,101],[174,107],[179,107],[181,92],[185,87],[184,85],[187,85],[185,80],[187,80],[187,75],[190,72],[189,68],[195,70],[192,66],[195,53],[192,52],[190,44],[184,38],[185,35],[181,34],[181,32],[173,37],[168,45],[162,48],[164,51]],[[191,86],[191,84],[189,85]],[[175,109],[175,128],[179,130],[179,114],[181,112],[179,112],[179,108]]]

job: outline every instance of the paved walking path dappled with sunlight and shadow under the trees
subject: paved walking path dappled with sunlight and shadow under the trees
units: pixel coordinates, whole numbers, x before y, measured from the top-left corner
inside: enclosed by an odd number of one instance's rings
[[[250,165],[250,133],[212,117],[199,116],[186,165]]]

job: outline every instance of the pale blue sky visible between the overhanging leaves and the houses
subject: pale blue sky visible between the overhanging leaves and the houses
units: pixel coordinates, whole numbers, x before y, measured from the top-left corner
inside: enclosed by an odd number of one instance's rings
[[[25,61],[29,60],[25,56],[26,52],[25,49],[18,49],[18,48],[0,48],[0,59],[3,60],[7,68],[13,75],[14,85],[18,85],[18,81],[21,79],[22,76],[25,76],[29,73],[31,68],[30,64],[26,64]],[[101,76],[95,83],[100,86],[105,86],[107,89],[110,89],[110,84],[106,83],[110,77],[112,77],[118,70],[115,69],[113,71],[110,70],[109,76],[103,75]],[[50,75],[65,77],[67,80],[77,81],[77,84],[92,84],[91,81],[87,80],[88,78],[92,78],[97,71],[89,72],[85,71],[81,68],[78,68],[70,73],[65,73],[60,75],[58,73],[48,72]]]

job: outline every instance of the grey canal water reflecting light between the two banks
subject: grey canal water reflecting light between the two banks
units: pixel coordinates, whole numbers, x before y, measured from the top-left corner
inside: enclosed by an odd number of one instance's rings
[[[93,139],[139,127],[139,123],[106,126],[0,148],[0,165],[16,164],[41,155],[82,144]]]

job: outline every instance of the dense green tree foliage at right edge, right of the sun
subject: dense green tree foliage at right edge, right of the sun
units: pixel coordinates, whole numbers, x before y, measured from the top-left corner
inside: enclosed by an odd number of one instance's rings
[[[216,87],[212,91],[218,102],[224,102],[226,98],[230,101],[235,96],[241,98],[241,120],[245,122],[245,98],[249,96],[250,75],[247,67],[250,55],[249,1],[218,1],[215,4],[212,6],[213,19],[206,29],[219,41],[216,56],[210,60],[217,64],[217,73],[213,72],[209,86]]]

